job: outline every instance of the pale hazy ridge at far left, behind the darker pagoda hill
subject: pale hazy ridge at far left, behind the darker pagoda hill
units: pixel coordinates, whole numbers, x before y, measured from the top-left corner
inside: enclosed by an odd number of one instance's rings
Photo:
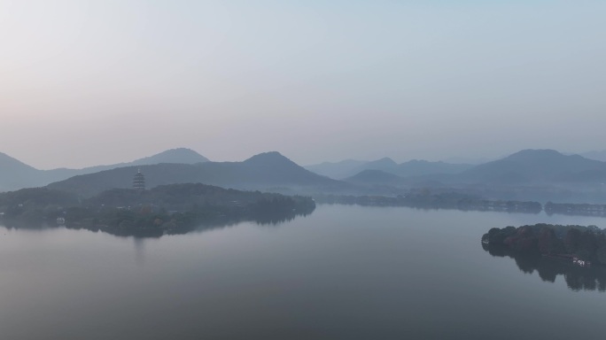
[[[159,163],[196,164],[207,162],[208,158],[190,149],[179,148],[160,152],[159,154],[136,159],[128,163],[109,166],[90,166],[82,169],[59,168],[38,170],[27,166],[15,158],[0,153],[0,191],[23,188],[42,187],[51,182],[58,182],[79,174],[92,174],[124,166],[143,166]]]

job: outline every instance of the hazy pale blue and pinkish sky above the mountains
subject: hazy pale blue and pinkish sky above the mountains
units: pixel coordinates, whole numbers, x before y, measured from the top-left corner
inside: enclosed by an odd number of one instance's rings
[[[606,1],[0,0],[0,151],[302,165],[606,149]]]

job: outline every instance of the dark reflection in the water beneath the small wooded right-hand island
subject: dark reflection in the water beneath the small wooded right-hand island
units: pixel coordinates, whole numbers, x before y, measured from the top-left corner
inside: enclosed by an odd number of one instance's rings
[[[540,254],[511,251],[508,247],[482,243],[482,248],[493,257],[509,257],[525,274],[536,271],[544,282],[556,282],[557,275],[563,275],[569,289],[606,291],[606,267],[580,267],[563,259],[549,259]]]

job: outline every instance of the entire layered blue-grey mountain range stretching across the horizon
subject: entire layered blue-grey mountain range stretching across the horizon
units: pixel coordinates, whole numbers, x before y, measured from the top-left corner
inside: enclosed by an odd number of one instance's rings
[[[48,184],[52,189],[89,197],[105,189],[130,188],[139,169],[146,177],[148,188],[201,182],[232,189],[359,195],[450,188],[504,199],[524,199],[529,192],[540,199],[556,197],[555,193],[564,197],[563,193],[568,192],[592,192],[593,201],[606,201],[606,192],[602,194],[606,162],[553,150],[518,151],[478,166],[424,160],[397,164],[391,158],[381,158],[375,161],[349,159],[304,168],[276,151],[241,162],[212,162],[195,151],[174,149],[113,166],[55,170],[38,170],[0,154],[0,191]]]

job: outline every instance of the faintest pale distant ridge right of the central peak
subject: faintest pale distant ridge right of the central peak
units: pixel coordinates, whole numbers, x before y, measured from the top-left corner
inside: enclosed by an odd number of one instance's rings
[[[381,158],[369,162],[345,160],[338,163],[322,163],[315,166],[306,166],[307,170],[335,179],[349,179],[365,170],[381,170],[400,177],[408,177],[426,174],[459,174],[471,167],[472,165],[470,164],[451,164],[441,161],[430,162],[417,159],[398,164],[392,158]]]

